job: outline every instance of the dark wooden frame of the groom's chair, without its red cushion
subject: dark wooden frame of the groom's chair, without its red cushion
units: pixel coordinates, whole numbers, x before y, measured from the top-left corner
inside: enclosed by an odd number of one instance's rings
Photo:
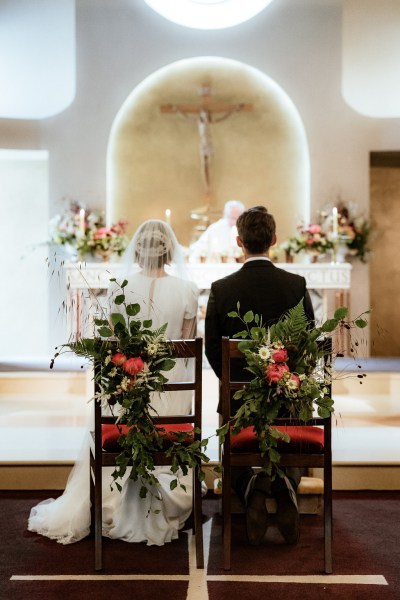
[[[231,380],[231,359],[243,358],[238,349],[240,340],[222,338],[222,378],[221,378],[221,405],[222,424],[230,420],[230,405],[232,392],[241,389],[243,382]],[[323,340],[325,348],[332,352],[330,339]],[[318,426],[324,430],[324,450],[321,453],[289,453],[281,454],[280,465],[282,467],[307,467],[322,468],[324,472],[324,567],[325,573],[332,573],[332,429],[331,417],[315,417],[311,421],[301,421],[293,418],[278,418],[277,426],[295,425]],[[289,442],[290,445],[290,442]],[[262,467],[263,459],[260,453],[255,452],[231,452],[230,435],[225,438],[222,448],[222,514],[223,514],[223,567],[231,569],[231,468],[232,467]]]

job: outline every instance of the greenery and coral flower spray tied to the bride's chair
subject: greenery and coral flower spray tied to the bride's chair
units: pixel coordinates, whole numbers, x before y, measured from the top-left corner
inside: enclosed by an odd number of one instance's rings
[[[154,392],[163,391],[168,381],[166,374],[176,361],[165,337],[167,323],[153,329],[151,319],[137,318],[140,305],[126,302],[124,288],[128,282],[124,280],[118,284],[114,278],[110,281],[115,282],[118,288],[114,310],[95,319],[96,336],[63,344],[57,349],[50,366],[60,354],[71,351],[93,364],[101,363],[102,368],[95,372],[100,391],[94,401],[111,411],[121,428],[121,453],[112,477],[116,487],[121,490],[119,480],[127,473],[129,466],[129,477],[141,482],[140,496],[144,498],[152,486],[159,484],[153,473],[150,452],[162,448],[167,435],[151,419],[151,397]],[[122,425],[129,427],[128,433],[122,430]],[[188,444],[187,433],[176,432],[174,440],[169,438],[168,441],[165,453],[172,457],[171,471],[176,476],[170,487],[174,489],[180,485],[185,489],[179,482],[179,474],[182,472],[186,475],[188,469],[199,460],[208,462],[205,454],[208,440],[195,440]],[[131,465],[128,465],[129,461]],[[204,479],[201,469],[198,472],[200,480]]]

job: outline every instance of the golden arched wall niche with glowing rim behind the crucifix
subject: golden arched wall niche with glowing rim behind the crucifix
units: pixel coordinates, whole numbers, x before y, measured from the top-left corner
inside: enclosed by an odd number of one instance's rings
[[[309,156],[299,114],[276,82],[241,62],[198,57],[170,64],[140,83],[119,110],[107,154],[107,218],[165,218],[182,244],[190,243],[191,211],[206,203],[196,119],[162,113],[161,105],[194,104],[203,86],[215,101],[249,103],[211,125],[214,219],[229,199],[263,204],[280,240],[309,220]]]

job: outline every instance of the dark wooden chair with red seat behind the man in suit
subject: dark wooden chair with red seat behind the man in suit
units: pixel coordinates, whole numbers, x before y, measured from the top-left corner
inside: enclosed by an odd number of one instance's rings
[[[231,360],[243,358],[238,349],[239,340],[222,338],[221,406],[222,424],[231,417],[232,392],[243,387],[243,381],[231,380]],[[331,340],[324,340],[330,344]],[[326,346],[325,346],[326,347]],[[293,418],[276,419],[276,426],[289,434],[289,443],[281,442],[282,467],[322,468],[324,472],[324,565],[325,573],[332,573],[332,450],[331,417],[315,417],[305,423]],[[231,568],[231,468],[262,467],[263,458],[258,448],[258,439],[252,427],[242,430],[237,436],[228,433],[222,448],[222,513],[223,513],[223,565]]]

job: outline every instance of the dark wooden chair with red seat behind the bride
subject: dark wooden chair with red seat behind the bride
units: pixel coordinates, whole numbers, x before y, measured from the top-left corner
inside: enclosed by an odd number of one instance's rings
[[[200,433],[194,433],[193,428],[201,431],[201,395],[202,395],[202,338],[191,340],[172,340],[169,342],[173,347],[173,356],[178,359],[194,359],[194,377],[191,381],[168,382],[165,385],[166,391],[193,390],[194,401],[193,411],[189,415],[175,416],[157,416],[154,417],[154,423],[165,426],[169,435],[173,438],[174,431],[187,431],[188,440],[194,441],[201,438]],[[95,364],[96,369],[101,369],[101,365]],[[191,377],[191,376],[190,376]],[[95,382],[96,382],[95,377]],[[96,388],[96,383],[95,383]],[[97,391],[97,390],[96,390]],[[119,429],[115,425],[116,418],[104,416],[102,414],[99,402],[94,402],[94,431],[91,432],[90,445],[90,499],[91,499],[91,526],[94,530],[95,545],[95,569],[103,568],[102,561],[102,468],[112,467],[116,464],[116,458],[120,451],[117,447],[112,447],[111,451],[104,449],[104,438],[107,432],[108,444],[110,447],[110,427],[115,428],[114,440],[119,437]],[[115,444],[114,444],[115,446]],[[164,452],[155,452],[153,454],[155,465],[169,465],[170,459]],[[197,567],[204,567],[203,557],[203,530],[202,530],[202,494],[201,482],[198,478],[198,470],[201,464],[193,469],[193,533],[195,533],[196,544],[196,564]],[[118,490],[115,490],[119,494]]]

